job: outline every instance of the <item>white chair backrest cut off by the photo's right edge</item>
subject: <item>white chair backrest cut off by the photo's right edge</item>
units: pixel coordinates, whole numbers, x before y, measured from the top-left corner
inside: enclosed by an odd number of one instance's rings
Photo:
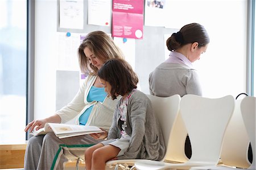
[[[245,122],[245,127],[247,130],[247,134],[249,135],[249,139],[251,142],[251,149],[253,150],[253,163],[249,167],[249,169],[255,169],[255,161],[256,161],[256,150],[255,150],[255,105],[256,99],[255,97],[245,97],[241,102],[241,113],[243,117],[243,122]]]

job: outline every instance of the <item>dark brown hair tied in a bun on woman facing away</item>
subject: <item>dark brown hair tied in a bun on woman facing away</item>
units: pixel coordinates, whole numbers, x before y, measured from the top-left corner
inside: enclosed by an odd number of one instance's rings
[[[183,45],[195,42],[199,43],[199,48],[204,47],[210,42],[207,31],[199,23],[191,23],[183,26],[180,31],[172,34],[167,39],[166,45],[168,50],[175,51]]]

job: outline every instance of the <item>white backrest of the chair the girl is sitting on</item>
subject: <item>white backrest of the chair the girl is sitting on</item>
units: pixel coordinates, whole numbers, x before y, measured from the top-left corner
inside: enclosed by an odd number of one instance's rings
[[[177,118],[177,114],[179,113],[180,96],[177,94],[171,97],[157,97],[149,94],[147,96],[150,98],[155,115],[162,129],[167,153],[171,130]],[[165,157],[166,156],[164,156],[164,159]]]

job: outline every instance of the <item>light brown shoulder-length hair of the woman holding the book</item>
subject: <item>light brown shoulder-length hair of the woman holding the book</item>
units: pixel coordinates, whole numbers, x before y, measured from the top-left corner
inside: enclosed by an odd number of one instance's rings
[[[113,39],[103,31],[93,31],[86,35],[79,46],[79,65],[81,72],[97,75],[98,68],[92,65],[85,56],[84,49],[89,48],[93,55],[104,63],[113,58],[123,59],[121,50],[114,44]]]

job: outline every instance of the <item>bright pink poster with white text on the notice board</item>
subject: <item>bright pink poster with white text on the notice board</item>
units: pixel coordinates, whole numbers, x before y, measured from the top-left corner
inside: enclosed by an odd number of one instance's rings
[[[113,0],[112,36],[143,38],[143,0]]]

